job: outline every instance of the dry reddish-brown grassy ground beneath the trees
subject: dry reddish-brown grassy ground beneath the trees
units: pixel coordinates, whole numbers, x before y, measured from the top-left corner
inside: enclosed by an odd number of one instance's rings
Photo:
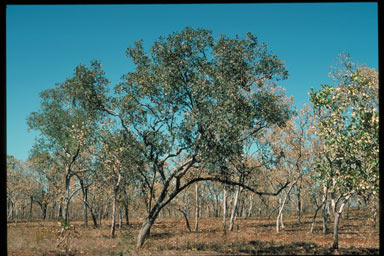
[[[140,219],[132,219],[130,225],[117,229],[114,239],[109,236],[109,220],[104,220],[98,229],[91,223],[84,227],[82,221],[72,221],[73,227],[62,236],[57,221],[19,221],[8,223],[8,255],[379,254],[379,228],[373,228],[372,221],[361,210],[341,220],[337,252],[330,249],[332,225],[331,232],[323,234],[318,218],[311,234],[311,217],[305,215],[300,225],[296,216],[285,217],[285,228],[280,234],[276,234],[276,221],[272,218],[239,218],[235,230],[226,234],[221,218],[200,219],[198,232],[188,232],[183,218],[161,218],[140,250],[135,248]],[[193,220],[190,222],[193,227]]]

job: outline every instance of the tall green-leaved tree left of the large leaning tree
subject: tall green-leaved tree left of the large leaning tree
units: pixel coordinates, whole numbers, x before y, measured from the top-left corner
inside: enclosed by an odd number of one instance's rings
[[[72,78],[57,84],[56,88],[41,92],[40,111],[32,112],[27,120],[30,129],[40,131],[40,140],[36,143],[40,151],[51,152],[61,166],[65,187],[65,222],[68,222],[68,207],[75,193],[74,190],[71,192],[71,179],[76,173],[86,171],[76,169],[76,162],[87,146],[93,144],[97,130],[97,116],[85,110],[76,100],[76,88],[88,84],[94,87],[108,84],[100,64],[92,62],[91,66],[88,69],[80,65]]]

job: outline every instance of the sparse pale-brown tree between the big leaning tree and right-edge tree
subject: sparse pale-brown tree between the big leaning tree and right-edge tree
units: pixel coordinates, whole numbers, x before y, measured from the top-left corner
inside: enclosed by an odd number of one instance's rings
[[[310,108],[304,106],[292,120],[287,121],[284,127],[273,127],[265,137],[265,143],[270,145],[267,149],[272,150],[270,154],[280,155],[278,161],[274,161],[274,165],[272,165],[273,170],[267,170],[267,172],[281,180],[284,180],[284,177],[291,177],[290,179],[293,181],[284,197],[279,199],[279,211],[276,218],[277,233],[280,232],[280,223],[281,227],[284,227],[282,214],[291,193],[295,192],[297,195],[297,220],[300,224],[301,200],[304,197],[302,192],[314,185],[309,178],[313,173],[317,156],[317,138],[313,136],[313,125],[314,120]]]

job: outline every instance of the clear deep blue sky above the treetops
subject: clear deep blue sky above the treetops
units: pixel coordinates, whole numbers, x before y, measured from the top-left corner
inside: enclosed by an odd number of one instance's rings
[[[150,46],[185,26],[215,36],[252,32],[285,62],[290,78],[280,85],[298,107],[311,87],[331,83],[339,53],[378,67],[377,3],[8,5],[7,154],[27,159],[37,133],[27,131],[26,117],[39,109],[40,91],[93,59],[116,84],[132,69],[125,50],[135,40]]]

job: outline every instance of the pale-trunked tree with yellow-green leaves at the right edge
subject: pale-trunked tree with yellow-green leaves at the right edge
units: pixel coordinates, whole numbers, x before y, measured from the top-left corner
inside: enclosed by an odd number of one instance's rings
[[[338,248],[338,225],[345,203],[353,194],[378,194],[379,119],[378,74],[341,57],[333,73],[336,88],[322,85],[310,100],[320,123],[324,155],[317,164],[319,180],[329,187],[334,214],[333,248]]]

